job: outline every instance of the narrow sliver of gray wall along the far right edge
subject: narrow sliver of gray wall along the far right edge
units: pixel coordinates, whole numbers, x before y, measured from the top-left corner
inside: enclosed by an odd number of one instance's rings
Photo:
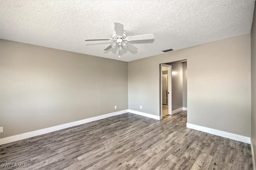
[[[256,8],[256,6],[255,6]],[[251,87],[252,87],[252,145],[254,148],[254,156],[256,159],[256,11],[254,8],[254,16],[251,31]],[[254,160],[256,162],[256,160]]]

